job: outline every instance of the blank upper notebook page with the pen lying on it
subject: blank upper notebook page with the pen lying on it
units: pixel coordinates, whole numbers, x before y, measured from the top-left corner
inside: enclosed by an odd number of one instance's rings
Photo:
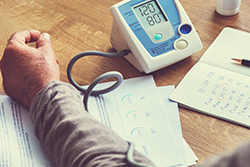
[[[231,58],[250,59],[250,34],[224,28],[199,62],[250,76],[249,67],[232,63]]]

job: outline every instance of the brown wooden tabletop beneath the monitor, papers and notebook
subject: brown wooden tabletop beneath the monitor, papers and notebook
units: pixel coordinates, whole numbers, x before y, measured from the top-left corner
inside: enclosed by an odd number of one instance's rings
[[[1,0],[0,52],[12,33],[37,29],[52,36],[59,59],[61,80],[68,82],[67,64],[86,50],[113,52],[109,42],[112,16],[109,8],[120,0]],[[215,12],[215,0],[180,0],[194,24],[203,49],[170,67],[153,72],[157,86],[178,85],[187,71],[200,59],[220,31],[226,27],[250,32],[250,1],[242,0],[240,12],[223,17]],[[124,78],[144,76],[124,58],[86,57],[75,65],[73,75],[79,84],[89,84],[96,76],[120,71]],[[0,91],[3,91],[2,86]],[[247,128],[210,116],[179,108],[183,136],[199,158],[220,154],[249,139]]]

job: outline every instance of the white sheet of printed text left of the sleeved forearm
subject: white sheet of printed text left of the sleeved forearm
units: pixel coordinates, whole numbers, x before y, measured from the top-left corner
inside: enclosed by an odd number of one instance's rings
[[[0,96],[0,105],[1,166],[52,167],[28,111],[5,95]]]

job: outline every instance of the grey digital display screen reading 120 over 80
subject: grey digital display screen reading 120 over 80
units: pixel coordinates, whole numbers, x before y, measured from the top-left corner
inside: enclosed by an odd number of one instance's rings
[[[145,29],[168,21],[155,0],[135,6],[133,9]]]

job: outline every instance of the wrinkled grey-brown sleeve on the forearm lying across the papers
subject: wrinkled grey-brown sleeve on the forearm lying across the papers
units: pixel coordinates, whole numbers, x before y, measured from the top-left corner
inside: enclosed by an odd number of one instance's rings
[[[30,107],[35,133],[57,167],[128,166],[128,144],[84,110],[79,92],[53,81]],[[140,153],[134,159],[154,166]]]

